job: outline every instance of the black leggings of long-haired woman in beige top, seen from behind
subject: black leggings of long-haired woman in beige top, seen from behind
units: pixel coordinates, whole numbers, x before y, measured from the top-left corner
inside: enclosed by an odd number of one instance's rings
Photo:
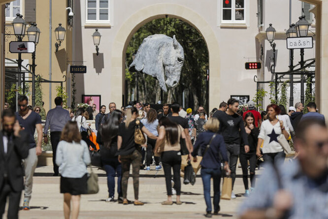
[[[176,194],[181,194],[181,181],[180,181],[180,168],[181,168],[181,155],[180,151],[169,150],[162,153],[162,163],[165,174],[165,183],[167,195],[172,195],[172,174],[171,168],[173,168],[173,182],[176,190]]]

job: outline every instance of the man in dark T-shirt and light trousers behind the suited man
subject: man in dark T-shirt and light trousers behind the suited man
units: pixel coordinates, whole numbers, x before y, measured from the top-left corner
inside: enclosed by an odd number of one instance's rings
[[[37,164],[37,156],[42,153],[42,125],[39,114],[28,108],[28,98],[21,95],[18,98],[19,110],[16,112],[16,118],[19,124],[27,132],[29,143],[29,156],[24,160],[25,170],[25,189],[24,189],[24,203],[23,209],[30,210],[30,200],[32,196],[33,174]],[[34,132],[37,131],[37,144],[34,140]]]

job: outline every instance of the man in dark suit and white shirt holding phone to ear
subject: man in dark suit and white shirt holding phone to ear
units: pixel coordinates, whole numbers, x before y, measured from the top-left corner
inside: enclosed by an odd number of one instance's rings
[[[27,133],[21,131],[15,113],[3,110],[0,132],[0,216],[4,213],[7,197],[9,207],[7,218],[17,219],[23,183],[22,159],[29,155]]]

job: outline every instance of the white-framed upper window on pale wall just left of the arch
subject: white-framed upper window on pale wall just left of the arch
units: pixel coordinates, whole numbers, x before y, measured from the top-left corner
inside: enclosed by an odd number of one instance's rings
[[[87,0],[86,23],[109,24],[109,0]]]

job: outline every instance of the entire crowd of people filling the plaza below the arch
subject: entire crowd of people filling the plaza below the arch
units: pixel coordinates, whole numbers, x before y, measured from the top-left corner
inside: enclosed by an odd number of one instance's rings
[[[316,104],[307,104],[308,113],[303,114],[301,103],[290,107],[270,104],[260,113],[255,103],[249,101],[248,110],[239,109],[239,102],[230,98],[218,109],[208,114],[202,106],[193,113],[178,103],[163,104],[155,110],[149,103],[129,103],[116,109],[115,103],[87,109],[63,109],[63,99],[55,99],[56,107],[49,110],[42,129],[41,108],[30,109],[28,98],[18,98],[19,110],[13,112],[6,106],[2,111],[0,141],[0,214],[4,213],[6,197],[9,196],[8,218],[18,218],[21,190],[24,189],[23,209],[30,209],[33,173],[41,143],[48,143],[48,132],[53,150],[54,176],[61,177],[60,192],[64,194],[64,216],[77,218],[81,194],[87,191],[87,165],[91,163],[90,151],[99,151],[101,168],[106,172],[108,197],[114,202],[117,186],[118,203],[144,205],[139,200],[139,171],[164,170],[167,200],[163,205],[181,205],[181,155],[200,162],[206,217],[212,217],[210,195],[213,179],[213,214],[220,211],[220,182],[222,176],[232,178],[232,190],[236,178],[238,160],[245,187],[244,196],[250,196],[239,211],[242,218],[281,218],[284,216],[309,215],[327,218],[328,188],[328,132],[324,115],[316,111]],[[91,129],[89,120],[95,120]],[[140,129],[146,141],[137,143],[135,132]],[[34,133],[37,133],[37,141]],[[282,141],[294,142],[297,157],[282,167],[286,157]],[[12,152],[12,148],[15,148]],[[20,164],[23,160],[24,165]],[[261,160],[268,165],[256,183],[255,172]],[[134,200],[128,200],[128,179],[132,165]],[[283,171],[287,170],[287,171]],[[173,172],[173,176],[172,173]],[[13,174],[15,173],[15,174]],[[17,173],[17,174],[16,174]],[[23,184],[25,173],[25,184]],[[249,173],[249,174],[248,174]],[[250,186],[248,178],[250,176]],[[272,176],[276,176],[272,179]],[[117,177],[117,183],[115,183]],[[274,180],[275,179],[275,180]],[[172,186],[172,182],[174,185]],[[311,190],[308,194],[303,187]],[[298,192],[298,193],[297,193]],[[315,193],[315,194],[314,194]],[[262,198],[265,197],[265,198]],[[315,197],[319,197],[316,200]],[[236,195],[231,193],[231,199]],[[294,199],[293,199],[294,198]],[[301,203],[302,198],[312,198],[313,203]],[[259,200],[263,201],[259,201]],[[284,202],[280,203],[284,199]],[[303,200],[304,200],[303,199]],[[72,203],[72,204],[71,204]],[[72,206],[72,207],[71,207]],[[314,210],[313,210],[314,208]],[[263,217],[260,217],[263,216]],[[326,216],[326,217],[322,217]]]

